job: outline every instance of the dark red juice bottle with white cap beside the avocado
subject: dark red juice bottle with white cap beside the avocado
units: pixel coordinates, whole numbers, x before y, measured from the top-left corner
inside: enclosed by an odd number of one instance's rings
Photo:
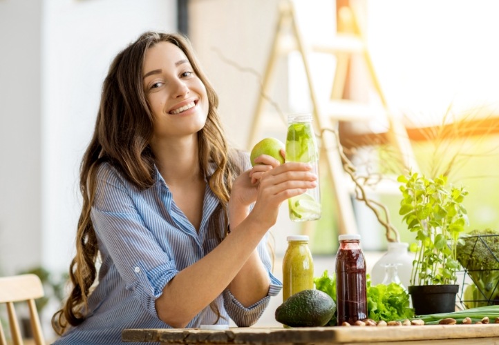
[[[338,324],[367,319],[366,260],[360,235],[339,235],[336,255]]]

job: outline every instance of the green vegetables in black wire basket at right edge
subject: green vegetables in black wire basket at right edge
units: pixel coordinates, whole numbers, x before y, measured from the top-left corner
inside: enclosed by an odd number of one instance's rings
[[[458,262],[473,284],[464,290],[467,308],[499,304],[499,231],[477,229],[461,236]]]

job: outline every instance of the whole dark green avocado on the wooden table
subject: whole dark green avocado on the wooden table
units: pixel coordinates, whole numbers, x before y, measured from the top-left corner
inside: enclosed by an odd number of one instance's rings
[[[328,324],[336,304],[321,290],[302,290],[276,308],[276,321],[290,327],[317,327]]]

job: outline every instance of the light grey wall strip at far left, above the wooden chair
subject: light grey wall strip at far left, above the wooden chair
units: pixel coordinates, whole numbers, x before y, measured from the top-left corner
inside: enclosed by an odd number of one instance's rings
[[[40,13],[0,1],[0,273],[41,259]]]

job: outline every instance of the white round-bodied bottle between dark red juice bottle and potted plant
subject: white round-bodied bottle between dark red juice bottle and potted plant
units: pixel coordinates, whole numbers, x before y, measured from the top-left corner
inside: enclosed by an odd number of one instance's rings
[[[402,285],[407,288],[411,281],[414,257],[408,253],[406,242],[388,242],[388,251],[374,264],[370,273],[371,284],[381,284],[386,275],[386,266],[397,264],[397,273]]]

